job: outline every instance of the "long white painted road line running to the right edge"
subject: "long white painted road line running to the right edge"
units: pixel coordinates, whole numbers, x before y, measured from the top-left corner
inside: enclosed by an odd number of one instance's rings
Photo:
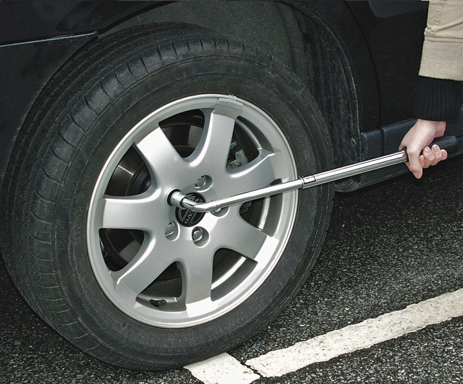
[[[282,376],[309,364],[327,361],[345,353],[418,331],[463,315],[463,289],[408,306],[402,311],[384,314],[360,324],[294,344],[247,360],[246,365],[261,375]],[[225,383],[225,382],[223,382]]]

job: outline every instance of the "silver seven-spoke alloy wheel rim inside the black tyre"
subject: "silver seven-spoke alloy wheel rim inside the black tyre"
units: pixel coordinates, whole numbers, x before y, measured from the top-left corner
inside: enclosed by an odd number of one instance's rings
[[[199,217],[168,205],[178,189],[210,201],[297,177],[292,150],[263,110],[197,95],[136,124],[95,184],[87,246],[97,282],[128,316],[195,326],[242,304],[268,278],[294,225],[298,192]]]

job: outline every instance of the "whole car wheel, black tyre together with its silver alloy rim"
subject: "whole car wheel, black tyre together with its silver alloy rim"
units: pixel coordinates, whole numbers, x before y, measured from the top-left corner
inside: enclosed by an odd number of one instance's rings
[[[31,109],[8,168],[5,264],[29,305],[100,360],[166,369],[241,344],[290,302],[333,186],[203,215],[211,200],[330,168],[316,102],[259,49],[188,26],[90,43]]]

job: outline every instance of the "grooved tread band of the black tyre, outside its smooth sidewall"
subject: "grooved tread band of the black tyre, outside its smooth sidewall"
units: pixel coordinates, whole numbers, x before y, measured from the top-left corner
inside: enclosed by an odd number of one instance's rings
[[[264,66],[299,89],[299,94],[307,100],[307,105],[311,108],[315,105],[312,96],[305,93],[305,87],[294,77],[292,71],[271,55],[221,36],[211,36],[208,33],[208,36],[204,36],[204,30],[198,28],[187,28],[183,31],[183,36],[171,38],[171,31],[174,29],[175,27],[167,26],[151,31],[134,28],[118,32],[93,42],[76,54],[50,81],[27,117],[16,144],[16,156],[8,168],[11,177],[5,178],[9,182],[4,183],[6,187],[2,193],[7,196],[6,208],[2,213],[7,217],[5,225],[10,233],[8,240],[2,245],[2,251],[6,256],[8,270],[28,303],[62,335],[76,342],[87,353],[113,364],[137,369],[166,368],[169,364],[158,366],[128,359],[104,346],[100,338],[92,334],[73,313],[73,308],[69,305],[70,299],[60,283],[63,277],[51,257],[59,246],[52,237],[55,231],[53,227],[57,225],[53,222],[53,217],[59,209],[59,194],[66,188],[67,171],[92,125],[105,109],[142,78],[197,57],[219,56]],[[153,33],[160,36],[160,43],[152,38]],[[135,53],[131,51],[134,46],[138,47]],[[100,78],[102,68],[112,60],[118,65],[111,65],[115,67],[114,70]],[[93,83],[95,85],[89,88],[89,84]],[[313,112],[322,126],[324,141],[330,143],[321,112]],[[63,120],[63,116],[69,117],[64,119],[65,124],[58,129],[54,126],[47,127],[47,123]],[[331,145],[327,151],[332,154]],[[333,156],[331,159],[333,164]],[[29,176],[35,172],[35,178]],[[26,201],[26,196],[31,193],[35,196],[33,201]],[[11,196],[15,196],[14,200]],[[328,205],[332,205],[332,196],[331,192]],[[18,209],[19,207],[21,208]],[[325,219],[317,229],[321,238],[326,236],[328,222]],[[21,246],[24,235],[28,241]],[[23,251],[20,257],[14,256],[21,254],[18,249],[28,251]],[[315,252],[318,253],[320,249],[321,242]],[[26,257],[33,260],[29,270],[25,265],[30,263],[23,260]],[[298,288],[292,289],[287,302]],[[275,316],[276,314],[271,315]]]

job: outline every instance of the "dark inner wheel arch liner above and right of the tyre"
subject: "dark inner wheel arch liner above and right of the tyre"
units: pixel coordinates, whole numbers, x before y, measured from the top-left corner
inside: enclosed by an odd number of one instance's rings
[[[379,123],[379,95],[365,37],[345,2],[180,1],[148,10],[137,22],[194,24],[274,55],[316,99],[336,166],[361,160],[360,132]]]

